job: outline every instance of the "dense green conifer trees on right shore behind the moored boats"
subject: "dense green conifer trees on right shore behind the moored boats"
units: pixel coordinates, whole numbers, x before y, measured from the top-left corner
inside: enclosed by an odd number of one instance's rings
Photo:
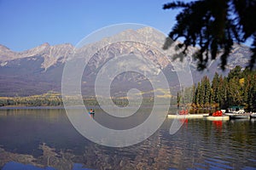
[[[241,66],[236,66],[227,77],[215,73],[212,82],[208,77],[203,77],[190,90],[193,108],[227,109],[242,105],[247,111],[256,111],[256,71],[242,71]],[[179,102],[180,94],[177,94],[177,105]]]

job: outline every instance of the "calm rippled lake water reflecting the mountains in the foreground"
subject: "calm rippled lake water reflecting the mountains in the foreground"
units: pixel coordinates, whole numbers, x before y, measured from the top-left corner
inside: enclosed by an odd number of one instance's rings
[[[126,120],[127,127],[137,126],[147,112],[145,109]],[[110,121],[97,109],[95,119],[110,127],[117,121]],[[256,169],[256,120],[183,120],[183,126],[171,135],[172,121],[166,118],[162,127],[142,143],[111,148],[80,135],[63,109],[0,110],[0,167]],[[125,126],[125,122],[114,124],[117,128]]]

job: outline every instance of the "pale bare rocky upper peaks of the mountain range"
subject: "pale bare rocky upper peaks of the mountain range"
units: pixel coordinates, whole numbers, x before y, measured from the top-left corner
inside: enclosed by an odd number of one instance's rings
[[[137,30],[128,29],[125,31],[121,31],[116,35],[113,35],[112,37],[106,37],[102,39],[101,41],[90,43],[84,45],[84,47],[80,48],[79,50],[76,50],[77,54],[84,54],[86,53],[88,56],[91,55],[91,52],[93,52],[92,49],[94,48],[100,48],[105,47],[111,44],[111,42],[115,41],[121,41],[121,40],[130,40],[133,41],[131,45],[125,44],[125,42],[120,42],[118,44],[115,44],[115,46],[111,46],[107,49],[106,53],[109,52],[109,50],[112,50],[111,53],[121,53],[127,52],[127,53],[134,53],[139,50],[146,50],[143,51],[143,54],[146,54],[148,56],[151,56],[152,59],[156,59],[158,62],[160,62],[161,66],[166,66],[166,59],[163,59],[159,56],[159,54],[156,52],[157,48],[161,49],[163,47],[163,44],[165,42],[166,36],[162,34],[160,31],[154,30],[152,27],[143,27]],[[142,45],[139,45],[137,42],[143,42],[146,45],[155,48],[156,51],[152,51],[143,48]],[[177,42],[173,43],[174,45],[177,44]],[[195,61],[192,59],[192,54],[195,53],[195,51],[198,48],[195,47],[189,47],[188,56],[186,59],[189,59],[189,64],[193,67],[193,69],[196,67]],[[33,57],[33,56],[40,56],[44,58],[44,62],[42,63],[41,67],[47,70],[51,65],[55,65],[58,62],[65,63],[67,60],[67,57],[73,56],[73,52],[75,50],[75,47],[73,47],[70,43],[64,43],[64,44],[57,44],[57,45],[49,45],[48,42],[44,42],[43,44],[39,45],[38,47],[28,49],[23,52],[14,52],[10,50],[9,48],[0,45],[0,64],[6,63],[9,60],[13,59],[23,59],[27,57]],[[113,51],[114,50],[114,51]],[[173,54],[176,54],[176,51],[174,48],[169,48],[168,50],[162,51],[168,58],[172,58]],[[151,55],[150,55],[151,54]],[[237,62],[239,64],[247,63],[247,56],[251,54],[249,48],[246,46],[241,46],[239,44],[235,44],[234,48],[231,51],[231,54],[233,57],[229,58],[230,65],[228,67],[232,68],[234,67]],[[104,55],[106,56],[106,55]],[[100,57],[101,59],[104,58],[104,56]],[[246,57],[245,57],[246,56]],[[109,56],[110,57],[110,56]],[[105,59],[102,59],[104,61]],[[180,62],[180,59],[177,59],[173,62]],[[96,61],[96,63],[101,63],[99,61]],[[209,65],[211,66],[212,63]],[[217,66],[216,66],[217,67]]]

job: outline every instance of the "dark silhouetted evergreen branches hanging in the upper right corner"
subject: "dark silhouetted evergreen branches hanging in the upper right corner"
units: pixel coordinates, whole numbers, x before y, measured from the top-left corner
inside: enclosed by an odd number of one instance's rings
[[[253,69],[256,59],[256,1],[255,0],[201,0],[189,3],[182,1],[166,3],[164,9],[182,8],[177,14],[177,24],[166,38],[164,49],[172,45],[172,40],[183,37],[184,42],[177,46],[186,54],[187,48],[199,45],[194,54],[198,70],[207,68],[207,62],[221,58],[224,70],[235,42],[246,42],[253,38],[253,52],[248,66]]]

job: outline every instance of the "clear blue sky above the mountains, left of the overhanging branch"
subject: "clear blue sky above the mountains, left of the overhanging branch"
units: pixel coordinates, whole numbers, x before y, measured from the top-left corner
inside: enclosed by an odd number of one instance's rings
[[[170,0],[0,0],[0,44],[23,51],[44,42],[75,45],[92,31],[120,23],[138,23],[163,31],[175,23],[177,10],[163,10]]]

